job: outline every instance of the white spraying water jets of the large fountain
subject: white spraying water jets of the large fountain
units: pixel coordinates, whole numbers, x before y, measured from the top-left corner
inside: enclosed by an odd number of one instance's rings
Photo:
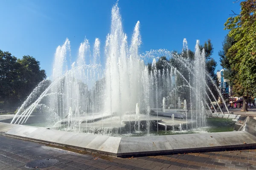
[[[150,136],[162,129],[167,133],[167,129],[181,131],[185,126],[186,130],[204,127],[205,106],[213,94],[207,94],[208,74],[199,40],[194,60],[183,57],[189,55],[186,39],[182,54],[163,49],[140,54],[141,42],[140,21],[128,42],[116,3],[104,54],[99,38],[92,52],[85,39],[76,62],[69,63],[70,41],[66,39],[56,49],[50,80],[39,83],[11,123],[26,124],[33,111],[41,108],[52,128],[82,133]],[[105,65],[101,57],[106,58]]]

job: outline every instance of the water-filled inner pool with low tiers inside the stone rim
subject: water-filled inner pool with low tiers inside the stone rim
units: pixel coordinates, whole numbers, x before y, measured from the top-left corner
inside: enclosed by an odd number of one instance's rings
[[[25,125],[46,127],[55,130],[67,130],[73,133],[90,133],[115,137],[160,136],[233,131],[235,122],[232,121],[232,119],[237,120],[240,115],[210,113],[209,116],[205,118],[206,122],[209,123],[201,127],[196,126],[197,123],[195,119],[188,119],[186,121],[186,119],[180,119],[178,117],[172,119],[170,116],[140,114],[139,120],[136,119],[135,114],[125,114],[124,117],[117,115],[100,116],[101,114],[98,114],[98,116],[94,115],[94,119],[90,115],[87,115],[87,117],[73,117],[72,122],[68,121],[68,119],[64,119],[54,126],[49,122],[44,122],[45,119],[34,119],[35,116],[31,116]],[[226,117],[229,119],[221,119]],[[33,122],[32,120],[37,121]],[[41,120],[41,122],[38,122],[38,120]],[[0,120],[0,122],[6,121]],[[140,123],[138,124],[138,122]]]

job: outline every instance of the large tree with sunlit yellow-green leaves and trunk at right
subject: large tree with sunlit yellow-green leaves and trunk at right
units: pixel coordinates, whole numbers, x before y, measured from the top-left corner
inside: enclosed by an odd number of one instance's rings
[[[226,57],[234,75],[230,76],[233,92],[243,96],[242,111],[247,111],[246,100],[256,96],[256,0],[240,3],[241,12],[228,18],[224,24],[233,37],[234,44],[228,49]]]

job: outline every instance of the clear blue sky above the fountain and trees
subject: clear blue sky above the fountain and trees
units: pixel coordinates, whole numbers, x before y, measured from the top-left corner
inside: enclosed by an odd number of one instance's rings
[[[239,3],[233,1],[119,0],[119,7],[128,40],[140,20],[141,53],[159,48],[181,51],[183,38],[193,50],[197,39],[201,44],[211,39],[217,71],[221,69],[218,51],[227,34],[224,23],[231,10],[240,11]],[[18,58],[35,57],[50,76],[55,49],[66,38],[71,43],[72,58],[76,58],[85,36],[91,46],[98,37],[103,51],[115,3],[116,0],[0,0],[0,49]]]

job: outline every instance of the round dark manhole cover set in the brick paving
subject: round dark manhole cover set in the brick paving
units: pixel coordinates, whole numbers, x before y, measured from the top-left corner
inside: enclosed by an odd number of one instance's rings
[[[44,167],[50,167],[52,165],[55,165],[58,163],[58,160],[56,159],[40,159],[31,161],[25,164],[25,167],[27,168],[44,168]]]

